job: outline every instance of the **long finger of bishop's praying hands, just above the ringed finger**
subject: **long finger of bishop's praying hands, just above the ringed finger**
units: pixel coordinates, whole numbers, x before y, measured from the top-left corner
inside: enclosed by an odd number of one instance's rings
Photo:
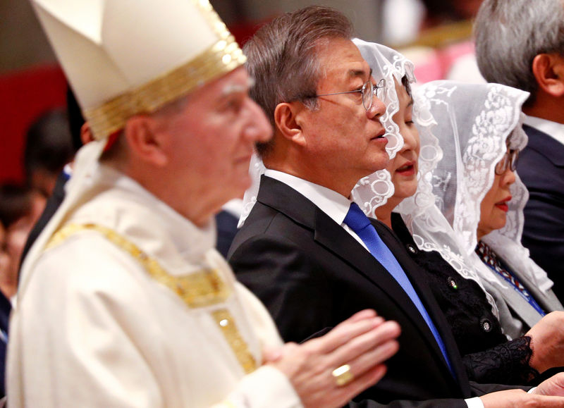
[[[358,335],[350,342],[342,345],[334,350],[329,356],[328,364],[341,366],[348,364],[362,354],[374,350],[384,343],[398,338],[400,335],[400,325],[395,321],[386,321],[380,326],[370,330],[367,333]]]

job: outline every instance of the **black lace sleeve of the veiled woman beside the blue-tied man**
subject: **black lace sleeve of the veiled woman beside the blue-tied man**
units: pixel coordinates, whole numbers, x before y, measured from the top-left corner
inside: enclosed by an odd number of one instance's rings
[[[510,340],[484,352],[465,355],[462,360],[470,380],[478,383],[524,385],[534,381],[539,371],[529,366],[531,338]],[[503,380],[503,381],[501,381]]]

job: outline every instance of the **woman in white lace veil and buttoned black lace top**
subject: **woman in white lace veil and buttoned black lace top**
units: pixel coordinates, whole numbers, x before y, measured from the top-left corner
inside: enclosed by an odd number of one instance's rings
[[[398,150],[396,159],[388,165],[388,170],[377,172],[388,175],[374,174],[363,179],[353,190],[355,200],[369,216],[376,216],[393,228],[407,251],[424,268],[425,278],[430,281],[434,295],[453,328],[461,354],[465,356],[470,378],[482,382],[532,381],[538,372],[533,365],[529,365],[532,356],[532,349],[529,347],[530,336],[507,341],[497,319],[498,308],[494,299],[486,292],[482,279],[474,271],[480,264],[479,260],[465,256],[460,249],[462,242],[434,205],[429,171],[443,155],[432,132],[435,122],[427,106],[417,101],[413,112],[411,111],[409,83],[415,80],[412,64],[397,51],[379,44],[359,40],[355,40],[355,43],[373,69],[374,60],[383,56],[393,64],[396,89],[393,89],[393,92],[388,90],[388,94],[396,97],[396,104],[399,103],[393,118],[399,125],[400,133],[405,136],[405,143]],[[400,83],[403,83],[403,86],[399,85]],[[419,136],[413,127],[413,121],[417,123],[421,137],[420,152]],[[382,178],[393,180],[396,189],[391,197],[378,194],[370,188],[372,182]],[[378,204],[374,206],[374,202]],[[394,208],[400,211],[402,216],[392,214]],[[485,285],[489,287],[487,283]],[[513,320],[503,302],[500,304],[499,314],[503,318],[502,321]],[[551,321],[546,324],[549,323]],[[510,323],[510,326],[515,325]],[[539,326],[537,332],[541,330],[544,333],[545,328]],[[527,333],[529,334],[532,333]],[[551,333],[553,334],[555,333]],[[546,356],[550,350],[548,347],[535,350],[538,352],[535,361],[537,364],[534,364],[534,367],[539,371],[562,365],[555,359],[541,359],[539,363],[539,357]]]

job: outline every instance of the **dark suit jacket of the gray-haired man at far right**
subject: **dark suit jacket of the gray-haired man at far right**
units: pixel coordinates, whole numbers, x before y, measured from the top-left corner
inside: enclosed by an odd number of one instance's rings
[[[564,145],[546,133],[523,125],[529,144],[517,162],[517,173],[529,190],[522,243],[548,273],[564,302]]]

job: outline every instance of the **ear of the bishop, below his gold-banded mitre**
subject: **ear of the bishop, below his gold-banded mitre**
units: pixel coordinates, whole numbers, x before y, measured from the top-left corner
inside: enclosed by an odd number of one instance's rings
[[[166,133],[159,131],[157,120],[147,115],[136,115],[125,123],[125,140],[131,154],[157,167],[168,163]]]

